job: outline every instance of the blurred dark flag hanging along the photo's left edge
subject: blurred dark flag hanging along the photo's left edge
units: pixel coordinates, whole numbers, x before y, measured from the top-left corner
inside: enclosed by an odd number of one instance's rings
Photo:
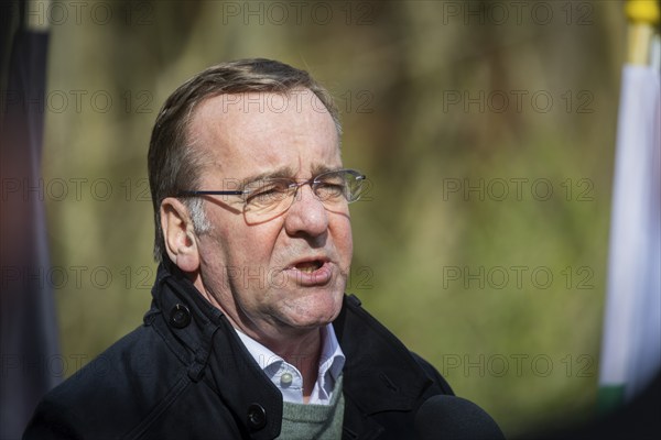
[[[48,33],[26,26],[28,1],[0,1],[0,438],[18,439],[59,383],[41,176]],[[42,4],[43,6],[43,4]],[[57,370],[57,369],[55,369]]]

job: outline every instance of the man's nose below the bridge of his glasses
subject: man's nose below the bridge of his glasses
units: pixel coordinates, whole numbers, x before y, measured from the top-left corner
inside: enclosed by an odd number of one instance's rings
[[[310,185],[299,187],[285,216],[284,229],[289,235],[318,238],[328,230],[328,212]]]

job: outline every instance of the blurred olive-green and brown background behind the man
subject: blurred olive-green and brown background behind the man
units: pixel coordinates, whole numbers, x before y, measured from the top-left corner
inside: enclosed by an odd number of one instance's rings
[[[595,414],[621,1],[55,1],[43,194],[68,376],[140,324],[165,98],[245,57],[335,96],[348,292],[506,436]]]

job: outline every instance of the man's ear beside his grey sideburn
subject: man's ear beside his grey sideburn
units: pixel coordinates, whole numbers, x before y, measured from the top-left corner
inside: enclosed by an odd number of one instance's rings
[[[197,271],[199,252],[188,209],[178,199],[167,197],[161,202],[160,215],[167,256],[184,272]]]

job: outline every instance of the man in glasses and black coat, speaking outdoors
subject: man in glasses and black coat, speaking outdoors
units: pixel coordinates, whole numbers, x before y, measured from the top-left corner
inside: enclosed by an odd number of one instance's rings
[[[345,296],[337,110],[307,73],[247,59],[165,102],[149,177],[161,262],[144,324],[40,404],[25,439],[414,439],[452,394]]]

